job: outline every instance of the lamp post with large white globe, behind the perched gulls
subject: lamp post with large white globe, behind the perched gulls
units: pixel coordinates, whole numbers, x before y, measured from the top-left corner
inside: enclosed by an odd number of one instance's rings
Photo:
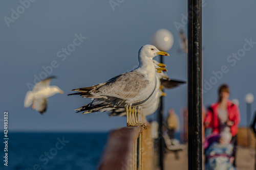
[[[152,44],[155,45],[160,51],[168,51],[173,46],[174,38],[172,33],[166,29],[158,30],[152,37]],[[164,63],[163,56],[160,56],[160,62]],[[158,109],[158,146],[159,146],[159,167],[163,170],[164,160],[164,140],[163,140],[163,96],[160,97]]]

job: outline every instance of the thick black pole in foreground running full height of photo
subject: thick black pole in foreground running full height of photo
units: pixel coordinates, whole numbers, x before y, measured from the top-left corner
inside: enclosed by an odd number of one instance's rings
[[[188,0],[188,169],[202,169],[202,8]]]

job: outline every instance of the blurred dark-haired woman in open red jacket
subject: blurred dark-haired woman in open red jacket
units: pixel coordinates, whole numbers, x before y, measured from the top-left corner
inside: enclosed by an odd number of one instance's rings
[[[233,165],[236,166],[237,133],[240,123],[240,111],[236,104],[228,100],[230,91],[226,84],[219,87],[219,99],[217,103],[212,104],[207,111],[204,119],[205,128],[211,128],[212,133],[221,133],[226,127],[230,128],[232,134],[232,143],[234,157]]]

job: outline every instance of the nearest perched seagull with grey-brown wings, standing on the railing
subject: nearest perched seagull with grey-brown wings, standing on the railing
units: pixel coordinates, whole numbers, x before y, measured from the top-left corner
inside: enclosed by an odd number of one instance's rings
[[[158,55],[169,56],[168,53],[159,51],[154,45],[144,45],[139,50],[139,66],[136,69],[104,83],[74,89],[79,92],[68,95],[92,98],[91,103],[75,110],[83,111],[84,114],[124,108],[127,126],[137,126],[138,124],[132,122],[132,114],[158,90],[156,89],[158,82],[156,68],[153,62],[153,58]],[[157,70],[163,70],[163,68]]]

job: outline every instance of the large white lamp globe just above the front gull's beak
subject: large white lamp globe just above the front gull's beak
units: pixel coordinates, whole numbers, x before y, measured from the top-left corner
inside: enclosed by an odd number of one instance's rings
[[[166,52],[172,48],[174,37],[168,30],[160,29],[152,36],[151,42],[158,48],[158,50]]]

